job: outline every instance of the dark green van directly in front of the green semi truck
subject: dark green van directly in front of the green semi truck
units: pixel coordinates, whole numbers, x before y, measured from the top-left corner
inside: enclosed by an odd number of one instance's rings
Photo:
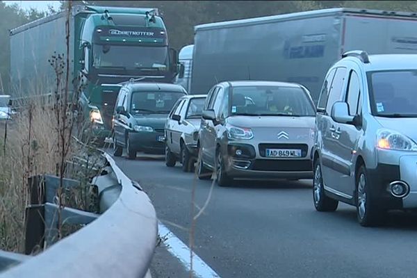
[[[127,83],[117,96],[113,113],[113,150],[129,159],[137,152],[164,154],[164,126],[177,100],[187,95],[181,85],[168,83]]]

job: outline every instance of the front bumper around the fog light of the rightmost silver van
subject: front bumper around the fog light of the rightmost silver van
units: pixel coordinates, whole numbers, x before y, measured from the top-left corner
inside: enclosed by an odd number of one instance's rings
[[[414,209],[417,208],[417,156],[404,155],[398,165],[379,163],[373,170],[368,171],[368,179],[373,185],[373,196],[379,206],[386,209]],[[389,183],[404,181],[410,190],[405,197],[391,195]]]

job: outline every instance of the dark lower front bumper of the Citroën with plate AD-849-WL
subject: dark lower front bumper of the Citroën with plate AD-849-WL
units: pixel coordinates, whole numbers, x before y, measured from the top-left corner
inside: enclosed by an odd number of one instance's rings
[[[261,144],[260,144],[261,146]],[[262,150],[262,147],[259,147]],[[313,167],[309,151],[301,158],[267,158],[249,144],[227,145],[227,174],[236,178],[311,179]],[[236,151],[240,150],[240,155]]]

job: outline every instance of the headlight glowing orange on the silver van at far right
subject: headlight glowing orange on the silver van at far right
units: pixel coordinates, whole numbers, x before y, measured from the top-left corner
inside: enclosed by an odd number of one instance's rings
[[[397,131],[389,129],[379,129],[377,131],[377,147],[379,149],[417,152],[416,142]]]

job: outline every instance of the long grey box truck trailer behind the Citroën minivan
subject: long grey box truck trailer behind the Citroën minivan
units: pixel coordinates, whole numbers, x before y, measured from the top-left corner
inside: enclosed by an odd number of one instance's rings
[[[220,81],[301,83],[317,103],[329,67],[345,51],[417,53],[417,15],[333,8],[195,26],[190,92]]]

